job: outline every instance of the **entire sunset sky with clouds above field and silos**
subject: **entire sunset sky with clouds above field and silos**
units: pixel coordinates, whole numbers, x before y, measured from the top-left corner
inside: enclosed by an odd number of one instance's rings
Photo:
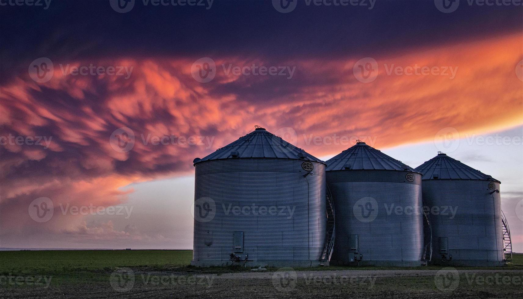
[[[523,252],[523,14],[487,2],[0,0],[0,247],[192,248],[192,160],[260,125],[445,152]]]

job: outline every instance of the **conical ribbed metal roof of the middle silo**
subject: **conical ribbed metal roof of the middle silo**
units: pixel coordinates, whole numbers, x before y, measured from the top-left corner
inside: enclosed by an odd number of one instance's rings
[[[352,147],[327,160],[325,170],[400,170],[415,171],[410,166],[383,154],[379,149],[358,141]]]

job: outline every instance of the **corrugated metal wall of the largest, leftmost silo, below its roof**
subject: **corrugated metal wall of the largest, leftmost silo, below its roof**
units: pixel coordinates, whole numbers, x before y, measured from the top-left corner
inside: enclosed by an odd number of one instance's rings
[[[249,260],[319,260],[325,241],[325,165],[312,162],[314,170],[305,178],[303,162],[197,163],[193,259],[228,261],[234,232],[242,231]],[[209,211],[213,216],[206,216]]]

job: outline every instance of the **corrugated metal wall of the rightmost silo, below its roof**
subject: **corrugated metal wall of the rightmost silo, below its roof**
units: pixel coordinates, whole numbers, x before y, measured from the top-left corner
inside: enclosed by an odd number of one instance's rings
[[[490,188],[489,188],[490,186]],[[439,237],[448,237],[452,260],[503,261],[503,223],[501,196],[497,181],[423,181],[424,204],[432,212],[433,259],[439,254]],[[453,216],[449,209],[456,210]]]

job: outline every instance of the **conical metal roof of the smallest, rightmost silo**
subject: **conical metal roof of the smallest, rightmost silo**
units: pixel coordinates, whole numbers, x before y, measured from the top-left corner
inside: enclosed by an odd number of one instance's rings
[[[465,165],[441,152],[439,152],[436,157],[416,167],[416,171],[422,173],[422,180],[451,179],[498,181],[492,178],[492,176],[485,175],[483,172]]]

